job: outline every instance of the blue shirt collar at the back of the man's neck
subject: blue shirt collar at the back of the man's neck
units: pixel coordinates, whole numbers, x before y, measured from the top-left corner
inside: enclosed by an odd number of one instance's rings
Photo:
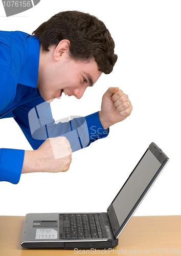
[[[28,36],[26,42],[28,54],[25,65],[22,67],[18,83],[36,88],[39,68],[39,40],[34,36]]]

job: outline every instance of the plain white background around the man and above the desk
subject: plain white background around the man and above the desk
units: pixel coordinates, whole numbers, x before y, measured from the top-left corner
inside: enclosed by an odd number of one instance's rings
[[[170,161],[135,215],[180,215],[180,1],[41,0],[12,17],[1,2],[1,30],[31,34],[64,10],[101,19],[115,40],[118,61],[82,99],[63,95],[52,102],[55,120],[99,111],[109,87],[128,94],[133,111],[110,127],[107,138],[73,153],[68,172],[23,174],[17,185],[1,182],[0,215],[106,211],[152,141]],[[32,150],[13,118],[0,121],[0,133],[2,148]]]

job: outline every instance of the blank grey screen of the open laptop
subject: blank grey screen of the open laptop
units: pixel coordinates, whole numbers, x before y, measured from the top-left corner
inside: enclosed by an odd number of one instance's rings
[[[155,176],[161,163],[147,150],[139,164],[120,190],[119,194],[112,202],[119,226],[121,227],[130,211],[137,204],[139,198],[144,193],[148,184]]]

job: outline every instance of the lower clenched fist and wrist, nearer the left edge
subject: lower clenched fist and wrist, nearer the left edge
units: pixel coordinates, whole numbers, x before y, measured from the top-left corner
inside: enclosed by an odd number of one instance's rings
[[[65,137],[49,138],[35,151],[25,151],[21,173],[66,172],[72,161],[72,150]]]

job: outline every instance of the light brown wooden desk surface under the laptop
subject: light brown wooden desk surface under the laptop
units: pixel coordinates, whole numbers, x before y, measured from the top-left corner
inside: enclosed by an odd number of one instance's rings
[[[0,217],[0,256],[54,255],[180,255],[181,216],[132,217],[119,237],[119,245],[106,251],[25,249],[20,245],[25,217]],[[164,250],[162,249],[164,248]],[[146,250],[146,252],[145,252]]]

